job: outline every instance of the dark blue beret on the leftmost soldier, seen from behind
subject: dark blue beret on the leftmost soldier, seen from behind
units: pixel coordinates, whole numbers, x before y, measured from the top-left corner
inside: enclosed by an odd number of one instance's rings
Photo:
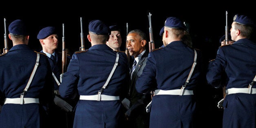
[[[9,33],[14,35],[29,35],[26,25],[22,20],[14,20],[8,27]]]

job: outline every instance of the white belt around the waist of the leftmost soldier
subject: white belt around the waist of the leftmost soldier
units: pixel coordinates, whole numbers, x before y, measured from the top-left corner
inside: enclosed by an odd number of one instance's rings
[[[23,104],[39,104],[38,98],[23,98]],[[6,98],[4,104],[20,104],[20,98]]]

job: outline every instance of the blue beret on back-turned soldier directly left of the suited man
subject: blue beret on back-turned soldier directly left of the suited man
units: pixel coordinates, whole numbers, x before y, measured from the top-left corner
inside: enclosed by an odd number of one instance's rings
[[[89,23],[89,31],[96,35],[110,35],[109,27],[101,20],[93,20]]]

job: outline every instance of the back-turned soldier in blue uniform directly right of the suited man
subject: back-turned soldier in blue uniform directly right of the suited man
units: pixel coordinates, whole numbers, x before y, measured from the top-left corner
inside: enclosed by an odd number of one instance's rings
[[[201,52],[181,40],[187,31],[181,20],[166,19],[163,42],[166,46],[151,51],[141,76],[137,79],[138,93],[152,97],[150,128],[192,128],[196,99],[194,90],[201,74]],[[154,81],[157,84],[154,84]]]

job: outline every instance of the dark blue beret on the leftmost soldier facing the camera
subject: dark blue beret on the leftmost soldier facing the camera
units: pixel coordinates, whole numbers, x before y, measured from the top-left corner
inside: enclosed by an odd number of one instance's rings
[[[43,29],[41,29],[38,33],[38,39],[45,39],[49,35],[56,34],[56,29],[54,26],[47,26]]]

